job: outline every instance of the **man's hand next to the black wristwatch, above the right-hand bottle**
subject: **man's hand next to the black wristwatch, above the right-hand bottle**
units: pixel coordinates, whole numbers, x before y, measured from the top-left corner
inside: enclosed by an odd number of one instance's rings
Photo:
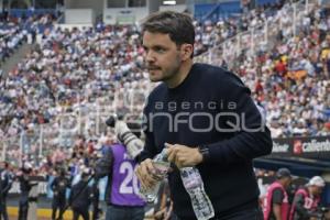
[[[180,144],[165,143],[167,151],[167,160],[178,168],[186,166],[195,166],[202,162],[202,155],[197,147],[189,147]]]

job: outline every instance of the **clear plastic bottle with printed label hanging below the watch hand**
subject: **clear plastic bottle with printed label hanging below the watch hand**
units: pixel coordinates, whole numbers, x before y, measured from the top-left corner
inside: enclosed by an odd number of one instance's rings
[[[215,217],[215,209],[205,191],[199,170],[196,167],[180,168],[180,176],[198,220],[208,220]]]

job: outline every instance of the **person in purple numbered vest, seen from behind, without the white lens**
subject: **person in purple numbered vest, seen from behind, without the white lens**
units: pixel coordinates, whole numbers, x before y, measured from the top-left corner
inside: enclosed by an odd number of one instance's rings
[[[96,165],[96,178],[108,176],[106,220],[143,220],[145,202],[138,196],[136,163],[127,147],[113,144],[103,147],[103,157]]]

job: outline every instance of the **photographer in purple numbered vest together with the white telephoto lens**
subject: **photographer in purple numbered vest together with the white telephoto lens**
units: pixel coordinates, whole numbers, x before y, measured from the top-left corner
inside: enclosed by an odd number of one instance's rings
[[[103,156],[95,168],[97,179],[108,176],[106,220],[143,220],[145,202],[138,196],[139,186],[134,173],[134,157],[142,148],[142,141],[124,121],[117,121],[111,117],[106,123],[114,128],[121,142],[103,146]]]

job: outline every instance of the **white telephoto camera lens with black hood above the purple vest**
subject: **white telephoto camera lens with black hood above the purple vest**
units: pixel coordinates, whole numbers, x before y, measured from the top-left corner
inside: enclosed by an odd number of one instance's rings
[[[111,116],[109,119],[107,119],[106,124],[114,128],[114,133],[118,141],[127,147],[128,154],[131,158],[135,158],[141,153],[144,144],[140,139],[140,134],[139,132],[133,132],[129,128],[122,116]],[[136,130],[139,124],[130,124],[130,127]]]

